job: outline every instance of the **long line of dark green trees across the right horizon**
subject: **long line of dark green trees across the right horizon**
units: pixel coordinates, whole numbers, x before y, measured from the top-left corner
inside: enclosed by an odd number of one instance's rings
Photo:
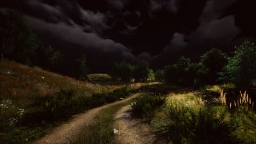
[[[115,63],[112,77],[114,80],[145,82],[149,75],[155,81],[176,86],[203,86],[220,83],[234,83],[237,87],[249,87],[256,80],[256,46],[245,41],[235,46],[233,56],[212,48],[204,53],[200,62],[193,63],[181,57],[178,62],[166,65],[153,73],[146,61],[132,65],[126,62]]]

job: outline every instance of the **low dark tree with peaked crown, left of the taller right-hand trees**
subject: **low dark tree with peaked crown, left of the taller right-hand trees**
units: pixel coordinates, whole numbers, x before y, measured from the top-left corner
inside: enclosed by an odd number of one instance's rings
[[[164,68],[167,83],[173,85],[191,86],[195,80],[197,64],[189,58],[181,57],[176,64]]]

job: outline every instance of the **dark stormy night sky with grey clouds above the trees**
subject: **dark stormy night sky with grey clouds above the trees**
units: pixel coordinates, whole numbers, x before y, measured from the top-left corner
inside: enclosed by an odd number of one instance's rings
[[[152,68],[184,55],[197,61],[211,47],[224,52],[255,42],[253,0],[20,0],[17,8],[45,44],[75,59],[85,53],[93,72],[115,61],[145,59]]]

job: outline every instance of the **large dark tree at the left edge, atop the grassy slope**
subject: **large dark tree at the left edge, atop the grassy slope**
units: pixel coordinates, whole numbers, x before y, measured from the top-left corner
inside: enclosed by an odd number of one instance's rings
[[[36,34],[18,10],[7,10],[0,17],[1,59],[31,64],[38,47]]]

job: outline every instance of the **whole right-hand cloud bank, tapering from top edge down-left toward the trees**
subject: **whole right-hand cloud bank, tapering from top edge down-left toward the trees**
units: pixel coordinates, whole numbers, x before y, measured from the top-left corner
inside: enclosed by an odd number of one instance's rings
[[[197,28],[187,32],[187,34],[174,32],[170,43],[164,47],[161,55],[154,56],[153,59],[164,62],[165,59],[171,58],[173,61],[182,55],[197,55],[211,47],[220,48],[229,44],[241,32],[240,28],[236,27],[233,15],[222,17],[225,9],[234,2],[235,0],[207,1],[201,14],[198,16],[199,25],[197,25]],[[146,54],[142,56],[146,58],[151,57]]]

